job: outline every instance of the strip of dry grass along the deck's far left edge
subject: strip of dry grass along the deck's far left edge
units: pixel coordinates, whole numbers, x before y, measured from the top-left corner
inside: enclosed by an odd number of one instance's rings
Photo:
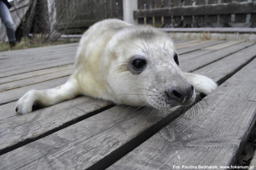
[[[78,40],[71,41],[70,39],[67,39],[67,40],[55,41],[53,43],[41,43],[36,40],[30,40],[29,38],[26,38],[26,41],[25,41],[25,39],[22,38],[20,42],[16,42],[16,45],[13,48],[10,47],[8,42],[0,43],[0,52],[9,51],[9,50],[20,50],[20,49],[26,49],[26,48],[45,47],[49,45],[67,44],[72,42],[79,42],[79,41]]]

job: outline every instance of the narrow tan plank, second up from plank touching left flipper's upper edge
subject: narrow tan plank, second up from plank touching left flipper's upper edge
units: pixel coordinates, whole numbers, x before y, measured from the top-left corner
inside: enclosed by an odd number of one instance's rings
[[[9,77],[3,77],[3,78],[0,78],[0,84],[7,83],[7,82],[13,82],[13,81],[21,80],[21,79],[27,79],[30,77],[36,77],[36,76],[40,76],[43,74],[54,73],[56,71],[71,69],[74,67],[75,67],[74,64],[61,65],[61,66],[57,66],[57,67],[53,67],[53,68],[46,68],[46,69],[42,69],[42,70],[38,70],[38,71],[31,71],[28,73],[17,74],[17,75],[13,75],[13,76],[9,76]]]

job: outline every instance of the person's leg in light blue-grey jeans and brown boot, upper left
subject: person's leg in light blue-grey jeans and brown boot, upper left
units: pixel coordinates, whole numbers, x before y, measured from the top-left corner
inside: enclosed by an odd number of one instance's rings
[[[0,17],[2,22],[6,26],[7,36],[9,38],[9,42],[16,41],[15,39],[15,25],[12,21],[12,16],[7,8],[6,4],[0,0]]]

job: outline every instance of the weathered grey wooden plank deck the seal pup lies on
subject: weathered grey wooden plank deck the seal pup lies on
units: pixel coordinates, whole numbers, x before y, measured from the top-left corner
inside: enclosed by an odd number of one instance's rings
[[[167,115],[144,113],[87,96],[17,115],[16,101],[27,91],[67,81],[78,43],[1,52],[0,169],[227,169],[220,166],[236,164],[256,119],[256,43],[175,43],[183,71],[219,84],[193,117],[177,118],[182,107]],[[256,167],[255,159],[251,165]]]

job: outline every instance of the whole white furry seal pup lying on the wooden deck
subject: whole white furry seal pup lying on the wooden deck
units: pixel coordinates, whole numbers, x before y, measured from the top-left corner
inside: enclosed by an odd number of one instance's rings
[[[81,38],[70,79],[56,88],[28,91],[18,100],[16,111],[29,113],[34,103],[45,107],[81,94],[164,110],[191,105],[196,92],[209,94],[217,88],[212,79],[183,73],[178,65],[167,33],[122,20],[103,20]]]

